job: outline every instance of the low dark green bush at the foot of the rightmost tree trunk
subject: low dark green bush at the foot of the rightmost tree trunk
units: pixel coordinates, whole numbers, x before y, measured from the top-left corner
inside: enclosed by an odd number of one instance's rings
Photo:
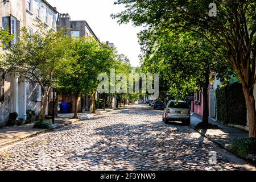
[[[236,138],[230,146],[230,150],[241,156],[256,154],[256,139]]]

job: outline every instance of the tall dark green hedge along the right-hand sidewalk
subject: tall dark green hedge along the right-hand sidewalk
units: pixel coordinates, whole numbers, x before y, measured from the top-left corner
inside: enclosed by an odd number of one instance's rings
[[[246,126],[246,104],[242,84],[221,85],[216,89],[217,119],[222,123]]]

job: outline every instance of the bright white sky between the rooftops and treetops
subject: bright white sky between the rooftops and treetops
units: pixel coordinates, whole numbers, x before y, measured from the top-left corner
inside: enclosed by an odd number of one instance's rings
[[[139,65],[141,48],[137,33],[140,27],[119,24],[110,14],[119,13],[123,5],[114,5],[114,0],[47,0],[59,13],[68,13],[71,20],[86,20],[101,42],[114,43],[118,53],[126,55],[133,67]]]

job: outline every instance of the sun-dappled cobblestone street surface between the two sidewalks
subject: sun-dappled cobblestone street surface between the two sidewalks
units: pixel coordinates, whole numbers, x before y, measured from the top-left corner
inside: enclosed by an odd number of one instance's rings
[[[190,127],[164,124],[161,114],[135,105],[0,148],[0,170],[243,169]]]

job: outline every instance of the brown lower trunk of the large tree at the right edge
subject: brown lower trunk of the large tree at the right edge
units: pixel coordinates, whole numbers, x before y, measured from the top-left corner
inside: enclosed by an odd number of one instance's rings
[[[245,95],[247,119],[249,121],[249,137],[256,138],[256,111],[253,88],[249,90],[243,85],[243,94]]]

